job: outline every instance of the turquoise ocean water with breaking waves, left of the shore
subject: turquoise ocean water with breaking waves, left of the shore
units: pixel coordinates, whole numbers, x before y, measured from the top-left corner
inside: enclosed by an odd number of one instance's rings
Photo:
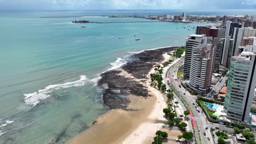
[[[210,25],[74,24],[71,21],[75,18],[10,15],[0,14],[0,143],[34,144],[56,139],[64,143],[72,139],[108,110],[102,104],[102,89],[95,87],[99,74],[125,64],[132,52],[183,45],[186,36],[195,31],[182,27]],[[135,41],[133,35],[141,40]]]

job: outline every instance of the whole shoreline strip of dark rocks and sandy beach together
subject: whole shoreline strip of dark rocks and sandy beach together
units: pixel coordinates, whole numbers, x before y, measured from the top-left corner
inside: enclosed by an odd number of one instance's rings
[[[106,89],[103,102],[110,110],[67,143],[149,143],[148,139],[153,140],[150,135],[154,136],[161,127],[155,122],[164,115],[162,109],[166,103],[162,94],[150,87],[149,74],[154,71],[154,65],[165,61],[164,53],[176,48],[143,50],[131,55],[135,60],[102,73],[98,86]],[[143,131],[147,128],[150,130]]]

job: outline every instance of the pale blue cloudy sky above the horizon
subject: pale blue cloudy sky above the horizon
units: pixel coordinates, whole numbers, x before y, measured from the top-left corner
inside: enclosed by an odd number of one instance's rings
[[[256,0],[0,0],[1,9],[256,9]]]

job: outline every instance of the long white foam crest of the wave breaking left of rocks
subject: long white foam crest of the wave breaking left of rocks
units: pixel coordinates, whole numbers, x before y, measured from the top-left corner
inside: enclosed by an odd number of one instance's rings
[[[77,80],[77,81],[46,86],[44,89],[39,89],[38,92],[24,94],[24,96],[25,96],[24,102],[27,105],[36,106],[38,103],[40,103],[40,100],[44,100],[44,99],[50,97],[51,92],[53,90],[60,89],[60,88],[84,86],[85,85],[85,80],[87,80],[86,76],[85,75],[80,75],[80,79]]]

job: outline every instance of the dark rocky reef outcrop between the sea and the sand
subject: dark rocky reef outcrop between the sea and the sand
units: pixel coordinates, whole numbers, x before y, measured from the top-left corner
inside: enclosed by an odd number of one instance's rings
[[[133,77],[120,75],[121,70],[111,70],[101,74],[102,79],[98,82],[99,86],[107,85],[106,91],[103,93],[104,104],[110,109],[128,109],[131,102],[127,95],[136,95],[139,97],[149,97],[149,91],[146,87],[146,80],[149,71],[154,65],[164,61],[162,56],[166,52],[170,52],[178,47],[167,47],[163,49],[147,50],[132,55],[133,59],[121,67],[124,71]]]

